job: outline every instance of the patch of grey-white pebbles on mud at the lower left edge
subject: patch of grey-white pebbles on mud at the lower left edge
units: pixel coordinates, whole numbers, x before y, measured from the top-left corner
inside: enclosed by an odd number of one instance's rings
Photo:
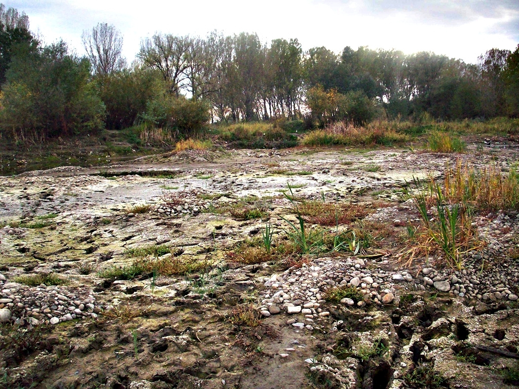
[[[81,296],[57,286],[30,287],[8,282],[0,274],[0,322],[56,325],[77,318],[97,317],[103,308],[92,295]]]

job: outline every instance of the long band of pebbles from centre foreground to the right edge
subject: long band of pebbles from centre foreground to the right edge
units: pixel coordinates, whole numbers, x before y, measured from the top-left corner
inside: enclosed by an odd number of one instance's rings
[[[405,286],[488,302],[515,301],[518,299],[516,285],[519,282],[519,263],[506,258],[510,251],[519,251],[519,242],[514,241],[514,237],[519,234],[518,219],[519,215],[501,213],[479,228],[480,239],[487,243],[486,247],[483,253],[467,253],[461,271],[427,267],[414,279],[407,271],[367,269],[366,263],[360,258],[322,258],[313,261],[311,266],[290,268],[265,279],[265,289],[261,292],[261,313],[264,316],[282,311],[288,314],[301,313],[309,323],[305,325],[291,320],[289,325],[313,329],[314,318],[329,315],[322,305],[326,302],[323,298],[326,289],[340,285],[359,289],[364,301],[359,301],[358,307],[363,307],[366,301],[391,303],[395,291]],[[340,302],[347,306],[354,305],[354,301],[348,298]]]

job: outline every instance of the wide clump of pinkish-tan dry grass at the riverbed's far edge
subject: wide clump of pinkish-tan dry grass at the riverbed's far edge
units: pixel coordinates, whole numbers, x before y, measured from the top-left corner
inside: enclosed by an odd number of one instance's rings
[[[303,137],[305,146],[370,146],[405,143],[405,134],[386,126],[356,127],[352,123],[336,122],[321,130],[313,130]]]

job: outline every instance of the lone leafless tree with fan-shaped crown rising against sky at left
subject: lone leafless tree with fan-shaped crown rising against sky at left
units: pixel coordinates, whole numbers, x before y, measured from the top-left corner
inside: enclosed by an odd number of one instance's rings
[[[105,76],[125,67],[122,58],[122,36],[114,25],[98,23],[92,31],[83,31],[81,41],[92,63],[94,73]]]

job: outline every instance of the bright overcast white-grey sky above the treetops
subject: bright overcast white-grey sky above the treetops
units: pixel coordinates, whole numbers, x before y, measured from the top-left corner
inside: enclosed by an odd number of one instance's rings
[[[0,0],[24,11],[45,43],[63,38],[84,54],[81,33],[99,22],[124,37],[131,62],[155,32],[205,36],[255,32],[265,42],[297,38],[304,50],[395,48],[475,63],[486,50],[519,44],[519,0]]]

